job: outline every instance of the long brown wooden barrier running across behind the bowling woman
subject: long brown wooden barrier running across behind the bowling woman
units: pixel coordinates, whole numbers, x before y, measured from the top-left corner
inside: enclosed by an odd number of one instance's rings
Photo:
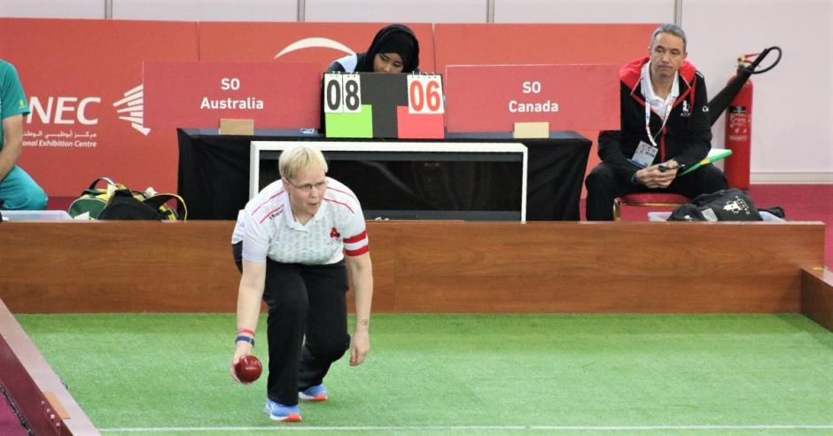
[[[234,222],[4,222],[15,313],[233,312]],[[821,222],[368,222],[376,312],[798,312]]]

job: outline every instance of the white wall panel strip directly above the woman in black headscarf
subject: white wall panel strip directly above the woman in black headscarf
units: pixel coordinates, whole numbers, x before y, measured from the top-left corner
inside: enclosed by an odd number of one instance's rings
[[[487,0],[306,0],[307,21],[484,23]]]

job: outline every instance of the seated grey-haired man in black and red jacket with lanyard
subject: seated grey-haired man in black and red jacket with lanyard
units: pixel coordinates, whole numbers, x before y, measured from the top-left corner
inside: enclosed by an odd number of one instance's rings
[[[727,188],[719,168],[703,160],[712,148],[705,80],[686,60],[686,35],[666,24],[654,30],[647,58],[619,70],[621,129],[599,134],[599,163],[588,175],[588,221],[611,221],[613,200],[631,192],[696,197]]]

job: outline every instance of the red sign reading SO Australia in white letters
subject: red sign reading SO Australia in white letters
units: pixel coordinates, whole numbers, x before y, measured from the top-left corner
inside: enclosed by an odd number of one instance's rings
[[[144,124],[217,128],[223,118],[255,128],[318,128],[321,72],[315,64],[145,62]]]

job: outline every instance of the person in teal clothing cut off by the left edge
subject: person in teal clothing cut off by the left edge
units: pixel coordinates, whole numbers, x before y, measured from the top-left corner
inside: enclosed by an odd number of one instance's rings
[[[46,194],[16,166],[23,149],[23,115],[29,105],[12,64],[0,59],[0,208],[4,210],[43,210]]]

